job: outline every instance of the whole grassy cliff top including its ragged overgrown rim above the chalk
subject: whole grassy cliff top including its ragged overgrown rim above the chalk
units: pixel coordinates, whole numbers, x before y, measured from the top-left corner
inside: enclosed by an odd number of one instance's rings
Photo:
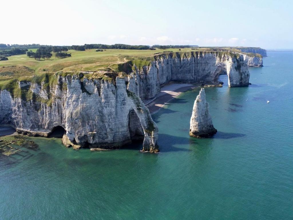
[[[35,49],[36,50],[36,49]],[[52,56],[50,60],[34,60],[27,55],[10,56],[8,60],[0,62],[0,89],[7,89],[16,96],[21,96],[18,81],[45,82],[51,84],[57,80],[57,75],[73,75],[80,71],[91,71],[87,78],[100,78],[113,80],[116,76],[141,69],[150,65],[151,61],[162,56],[173,58],[189,58],[203,53],[217,53],[217,55],[230,55],[238,57],[243,53],[235,48],[172,48],[168,50],[120,50],[107,49],[96,52],[96,49],[85,51],[69,50],[71,57],[57,59]],[[245,54],[245,53],[243,53]],[[261,56],[248,54],[249,56]],[[17,87],[17,88],[16,88]]]

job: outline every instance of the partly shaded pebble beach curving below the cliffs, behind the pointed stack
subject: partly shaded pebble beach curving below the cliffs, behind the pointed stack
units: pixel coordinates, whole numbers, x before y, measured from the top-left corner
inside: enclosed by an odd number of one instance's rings
[[[149,109],[151,114],[156,113],[162,107],[164,107],[168,102],[180,95],[182,92],[185,92],[189,89],[193,89],[198,87],[197,85],[192,84],[180,84],[180,83],[172,83],[163,86],[161,92],[156,94],[156,96],[152,100],[145,100],[144,104]]]

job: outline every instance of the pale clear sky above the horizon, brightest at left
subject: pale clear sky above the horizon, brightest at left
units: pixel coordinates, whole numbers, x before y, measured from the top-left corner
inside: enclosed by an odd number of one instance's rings
[[[3,0],[0,43],[293,48],[292,1]]]

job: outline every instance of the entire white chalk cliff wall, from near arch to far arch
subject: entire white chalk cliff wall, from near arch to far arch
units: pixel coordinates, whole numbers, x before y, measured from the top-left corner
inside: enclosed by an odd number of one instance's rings
[[[0,91],[0,123],[35,136],[60,126],[64,145],[76,149],[116,148],[142,138],[143,151],[158,152],[158,128],[141,99],[153,98],[170,81],[218,83],[220,74],[228,75],[229,87],[249,84],[239,53],[163,53],[148,62],[113,80],[59,73],[13,79]]]

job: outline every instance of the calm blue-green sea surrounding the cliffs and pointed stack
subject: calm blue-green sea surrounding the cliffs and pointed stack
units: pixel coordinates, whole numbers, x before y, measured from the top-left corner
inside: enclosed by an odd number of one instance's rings
[[[153,116],[159,154],[31,138],[1,156],[0,219],[293,219],[293,52],[268,56],[251,86],[205,89],[213,138],[189,136],[196,88]]]

